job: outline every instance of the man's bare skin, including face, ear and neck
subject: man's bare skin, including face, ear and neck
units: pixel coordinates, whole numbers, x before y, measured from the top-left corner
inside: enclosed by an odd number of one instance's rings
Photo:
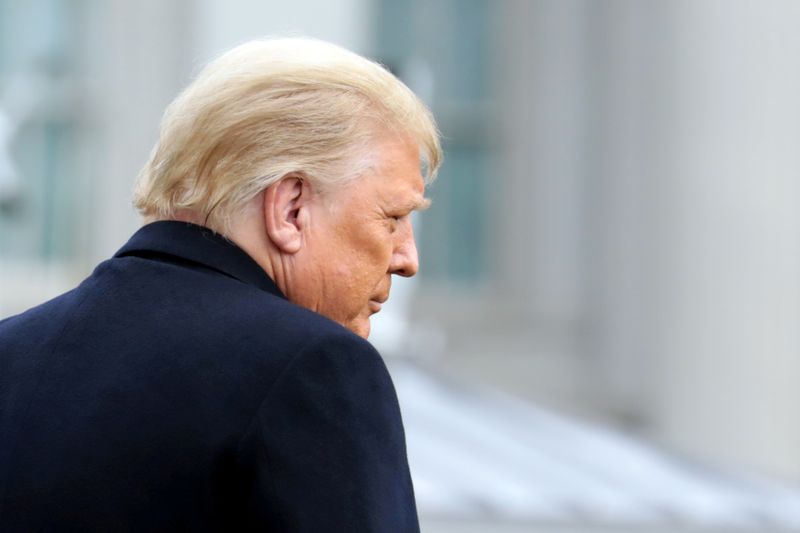
[[[333,192],[284,176],[231,237],[290,301],[366,338],[391,276],[419,268],[411,213],[427,207],[424,190],[418,148],[387,136],[370,170]]]

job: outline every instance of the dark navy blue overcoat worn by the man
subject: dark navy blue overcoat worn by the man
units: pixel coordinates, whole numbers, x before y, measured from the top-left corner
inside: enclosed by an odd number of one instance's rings
[[[0,531],[156,530],[419,530],[375,349],[183,222],[0,322]]]

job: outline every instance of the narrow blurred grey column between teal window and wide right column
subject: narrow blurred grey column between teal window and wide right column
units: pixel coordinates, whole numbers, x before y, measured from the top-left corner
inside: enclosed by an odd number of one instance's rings
[[[497,311],[546,327],[571,326],[580,305],[584,9],[582,0],[496,7],[499,157],[488,179],[505,302]]]

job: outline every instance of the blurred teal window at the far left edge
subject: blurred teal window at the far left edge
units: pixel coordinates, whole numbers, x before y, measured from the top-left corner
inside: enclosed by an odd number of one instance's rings
[[[0,109],[15,130],[8,147],[21,194],[0,209],[0,254],[68,259],[78,247],[78,117],[64,102],[81,2],[0,0]],[[30,112],[24,113],[23,110]]]

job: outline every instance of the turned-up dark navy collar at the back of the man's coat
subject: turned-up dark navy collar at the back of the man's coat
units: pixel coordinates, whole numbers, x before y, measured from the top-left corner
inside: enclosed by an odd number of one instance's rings
[[[285,296],[253,258],[212,230],[177,220],[161,220],[143,226],[114,257],[153,254],[200,263],[281,298]]]

